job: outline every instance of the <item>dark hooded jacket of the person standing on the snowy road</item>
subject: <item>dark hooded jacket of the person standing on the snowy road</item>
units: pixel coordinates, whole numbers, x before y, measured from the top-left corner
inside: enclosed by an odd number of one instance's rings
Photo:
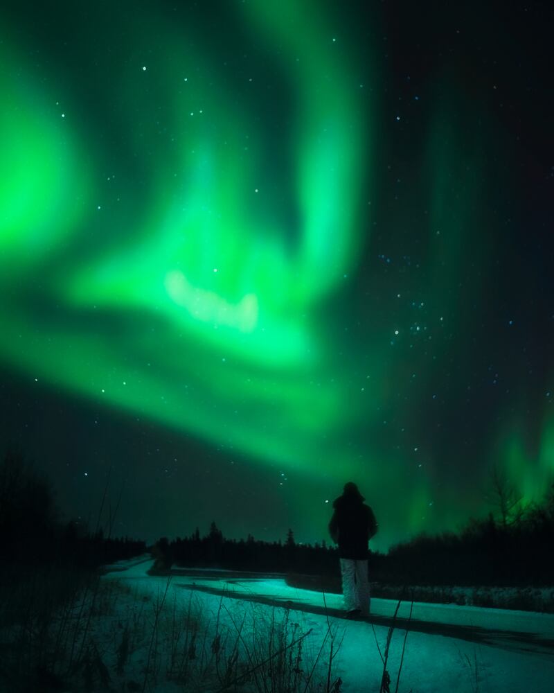
[[[329,533],[334,543],[339,544],[341,559],[365,561],[368,558],[368,541],[377,532],[377,522],[364,500],[356,484],[349,482],[333,502]]]

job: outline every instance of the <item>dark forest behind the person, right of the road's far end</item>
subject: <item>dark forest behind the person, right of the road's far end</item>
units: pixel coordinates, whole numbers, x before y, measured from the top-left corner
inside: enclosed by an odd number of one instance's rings
[[[553,586],[554,486],[540,504],[522,507],[512,487],[496,477],[497,514],[470,520],[461,532],[420,534],[369,554],[370,581],[391,585]],[[289,529],[285,542],[226,539],[215,523],[206,536],[196,528],[186,538],[161,538],[153,548],[154,570],[172,565],[229,570],[301,573],[334,577],[337,547],[325,541],[296,543]]]

